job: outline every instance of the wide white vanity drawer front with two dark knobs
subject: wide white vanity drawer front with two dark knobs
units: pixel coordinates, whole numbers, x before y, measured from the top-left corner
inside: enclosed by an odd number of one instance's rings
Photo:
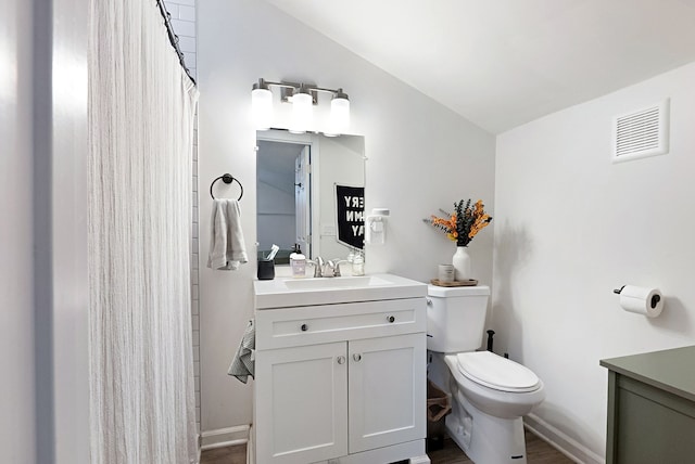
[[[255,312],[256,350],[426,332],[425,298]]]

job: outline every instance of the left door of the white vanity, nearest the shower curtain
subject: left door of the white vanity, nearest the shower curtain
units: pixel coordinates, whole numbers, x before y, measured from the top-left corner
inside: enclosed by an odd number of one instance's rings
[[[256,351],[256,462],[348,454],[348,344]]]

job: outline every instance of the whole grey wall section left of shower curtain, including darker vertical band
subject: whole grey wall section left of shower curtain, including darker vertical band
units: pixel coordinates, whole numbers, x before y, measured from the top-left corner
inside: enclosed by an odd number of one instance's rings
[[[8,461],[89,461],[87,11],[84,0],[1,3]]]

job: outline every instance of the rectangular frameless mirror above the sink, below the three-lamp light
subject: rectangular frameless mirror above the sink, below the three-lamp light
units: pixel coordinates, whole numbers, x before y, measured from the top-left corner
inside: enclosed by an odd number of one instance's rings
[[[364,249],[365,141],[287,130],[256,132],[258,257],[299,248],[313,259]]]

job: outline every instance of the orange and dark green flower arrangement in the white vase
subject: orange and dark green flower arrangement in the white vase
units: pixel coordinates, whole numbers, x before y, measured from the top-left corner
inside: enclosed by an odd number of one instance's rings
[[[444,218],[432,215],[424,221],[445,232],[448,240],[456,242],[457,246],[468,246],[476,234],[492,221],[492,217],[484,210],[482,199],[477,201],[472,207],[470,202],[470,198],[465,204],[463,199],[454,202],[454,212],[440,209]]]

